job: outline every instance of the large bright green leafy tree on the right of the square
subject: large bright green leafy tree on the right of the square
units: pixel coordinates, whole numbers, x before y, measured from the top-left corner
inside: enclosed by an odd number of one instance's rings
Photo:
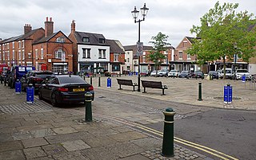
[[[226,60],[234,60],[234,54],[248,61],[255,56],[256,21],[248,11],[235,12],[238,3],[217,2],[213,9],[200,18],[201,25],[193,25],[191,33],[196,33],[192,47],[188,49],[191,55],[197,55],[201,62],[223,60],[226,71]],[[226,75],[226,72],[224,72]]]

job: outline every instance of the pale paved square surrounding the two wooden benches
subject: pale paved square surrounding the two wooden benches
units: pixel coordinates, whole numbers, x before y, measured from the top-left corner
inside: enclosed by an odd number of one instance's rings
[[[184,78],[168,78],[168,77],[151,77],[142,76],[141,80],[155,80],[162,81],[162,84],[166,85],[168,89],[165,90],[166,96],[161,96],[161,89],[146,88],[146,93],[143,92],[141,86],[141,92],[132,92],[132,87],[122,86],[122,90],[118,90],[119,79],[133,80],[134,83],[138,83],[138,76],[112,76],[111,88],[107,88],[107,77],[100,77],[100,87],[98,87],[98,77],[93,77],[92,82],[97,92],[101,89],[108,89],[113,92],[120,92],[125,94],[134,94],[137,96],[147,96],[158,100],[167,100],[177,103],[190,103],[194,105],[201,105],[206,107],[220,107],[220,108],[234,108],[245,110],[256,110],[256,88],[255,84],[242,80],[202,80],[202,79],[184,79]],[[86,81],[90,83],[90,78],[86,78]],[[202,82],[202,101],[198,101],[198,83]],[[224,104],[223,100],[223,88],[226,84],[230,84],[233,88],[233,102],[231,104]]]

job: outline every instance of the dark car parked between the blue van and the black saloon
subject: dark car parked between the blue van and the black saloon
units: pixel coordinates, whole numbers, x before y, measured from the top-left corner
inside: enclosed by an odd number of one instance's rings
[[[26,87],[29,84],[33,84],[34,92],[38,92],[39,86],[42,84],[43,80],[52,76],[54,72],[50,71],[29,71],[24,76],[22,76],[22,91],[26,91]]]

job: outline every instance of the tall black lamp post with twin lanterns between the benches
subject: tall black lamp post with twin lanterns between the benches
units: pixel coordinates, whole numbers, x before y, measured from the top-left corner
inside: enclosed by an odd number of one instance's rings
[[[136,10],[136,6],[134,6],[134,10],[131,11],[131,14],[133,14],[133,17],[134,17],[134,23],[137,23],[138,22],[138,42],[141,41],[141,21],[145,21],[145,17],[146,17],[146,14],[147,12],[149,11],[148,8],[146,8],[146,3],[144,3],[144,6],[141,8],[141,12],[142,12],[142,19],[138,19],[138,13],[139,11]],[[138,92],[141,92],[141,73],[140,73],[140,55],[138,55]]]

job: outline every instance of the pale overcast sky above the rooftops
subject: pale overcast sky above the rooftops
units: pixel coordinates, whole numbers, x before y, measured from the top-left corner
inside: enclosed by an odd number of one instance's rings
[[[121,41],[122,45],[135,45],[138,41],[138,23],[131,11],[139,10],[146,2],[149,12],[141,22],[141,41],[149,45],[151,37],[162,32],[168,42],[177,47],[183,37],[190,34],[192,25],[217,1],[214,0],[1,0],[0,37],[2,39],[23,34],[23,26],[44,28],[46,17],[53,18],[54,32],[62,30],[68,36],[70,24],[75,20],[76,30],[102,33],[106,39]],[[255,0],[219,1],[238,2],[238,11],[256,14]],[[142,18],[141,16],[139,18]]]

